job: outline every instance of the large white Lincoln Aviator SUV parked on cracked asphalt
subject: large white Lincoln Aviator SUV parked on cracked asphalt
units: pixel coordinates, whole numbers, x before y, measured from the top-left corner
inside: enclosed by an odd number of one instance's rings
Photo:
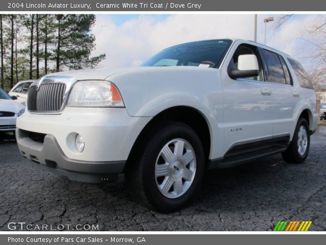
[[[317,127],[302,66],[220,39],[169,47],[125,69],[59,72],[32,84],[17,121],[22,156],[84,182],[124,173],[150,208],[181,208],[209,168],[282,153],[301,163]]]

